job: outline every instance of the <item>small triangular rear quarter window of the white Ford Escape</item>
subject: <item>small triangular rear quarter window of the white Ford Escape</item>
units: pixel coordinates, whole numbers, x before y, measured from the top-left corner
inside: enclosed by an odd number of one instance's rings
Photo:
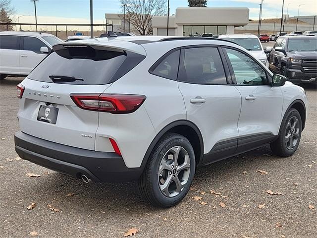
[[[176,80],[178,64],[179,50],[176,50],[162,57],[157,63],[153,65],[153,67],[150,69],[150,72],[163,78]]]

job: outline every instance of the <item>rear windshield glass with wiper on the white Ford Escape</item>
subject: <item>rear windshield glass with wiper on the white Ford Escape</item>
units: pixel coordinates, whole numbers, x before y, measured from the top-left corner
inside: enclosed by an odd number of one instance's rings
[[[70,51],[71,52],[71,51]],[[28,78],[58,83],[99,85],[114,82],[130,71],[145,57],[131,52],[98,51],[76,52],[77,55],[63,52],[51,53],[28,76]],[[100,53],[102,52],[102,53]],[[69,78],[73,78],[71,80]]]

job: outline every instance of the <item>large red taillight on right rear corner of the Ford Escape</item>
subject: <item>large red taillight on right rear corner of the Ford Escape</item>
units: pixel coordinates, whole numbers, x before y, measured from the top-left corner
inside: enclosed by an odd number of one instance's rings
[[[82,109],[112,114],[133,113],[146,99],[144,95],[99,93],[72,93],[70,97]]]

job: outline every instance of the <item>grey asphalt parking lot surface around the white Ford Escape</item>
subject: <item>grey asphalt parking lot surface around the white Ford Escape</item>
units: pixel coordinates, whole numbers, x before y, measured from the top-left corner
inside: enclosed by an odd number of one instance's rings
[[[34,237],[116,238],[131,228],[140,238],[317,237],[315,87],[304,86],[309,119],[292,157],[273,156],[267,146],[200,168],[183,202],[158,209],[141,198],[135,183],[84,184],[16,159],[16,84],[22,79],[0,82],[0,237],[35,232]],[[31,203],[36,206],[28,210]]]

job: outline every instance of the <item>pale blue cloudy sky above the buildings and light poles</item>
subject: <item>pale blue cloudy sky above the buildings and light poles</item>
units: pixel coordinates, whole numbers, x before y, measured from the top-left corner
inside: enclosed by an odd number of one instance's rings
[[[30,14],[34,16],[34,3],[29,0],[11,0],[16,9],[16,16]],[[166,0],[167,2],[167,0]],[[209,7],[248,7],[250,18],[256,19],[259,15],[261,0],[209,0]],[[316,0],[285,0],[285,8],[289,3],[290,16],[297,15],[298,5],[300,15],[313,15],[317,12]],[[264,0],[263,18],[280,17],[282,0]],[[175,13],[176,7],[187,7],[187,0],[170,0],[170,14]],[[284,12],[286,9],[284,10]],[[105,13],[120,13],[119,0],[94,0],[94,20],[102,21]],[[89,0],[40,0],[37,2],[37,15],[46,16],[43,23],[56,23],[57,18],[89,19]],[[20,18],[20,22],[30,22],[32,17]],[[40,18],[41,19],[41,18]],[[63,19],[64,21],[66,19]],[[42,23],[42,22],[39,22]]]

